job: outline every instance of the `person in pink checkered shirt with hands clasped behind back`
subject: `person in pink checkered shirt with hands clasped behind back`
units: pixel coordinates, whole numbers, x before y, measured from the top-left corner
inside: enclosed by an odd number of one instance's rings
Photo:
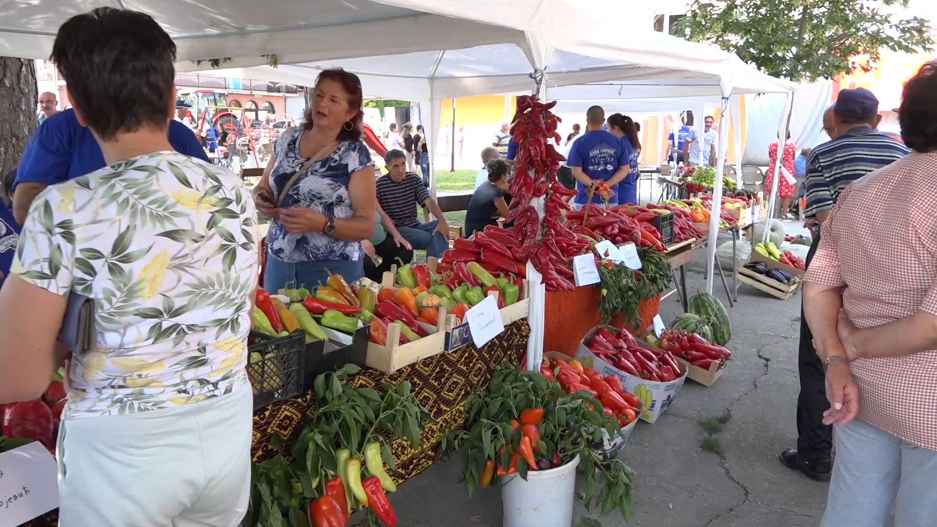
[[[892,504],[937,526],[937,61],[899,119],[913,152],[840,193],[804,278],[836,439],[823,527],[884,526]]]

